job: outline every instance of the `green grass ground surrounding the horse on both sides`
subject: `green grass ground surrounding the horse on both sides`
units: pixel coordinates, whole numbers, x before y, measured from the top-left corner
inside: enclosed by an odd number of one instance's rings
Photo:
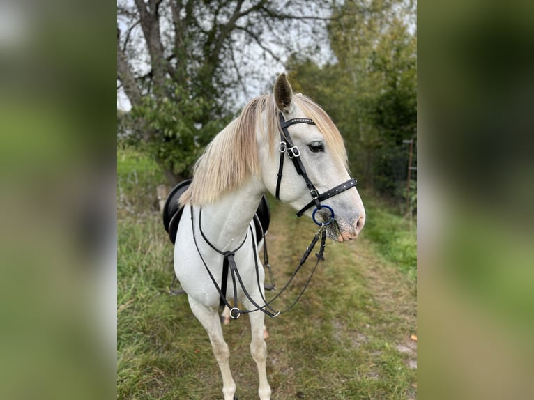
[[[118,399],[222,399],[208,336],[184,295],[171,296],[172,246],[155,208],[162,174],[119,151]],[[135,172],[134,172],[135,171]],[[415,229],[370,194],[358,240],[328,242],[326,261],[298,305],[267,319],[267,373],[277,399],[415,399],[417,391]],[[270,199],[270,263],[281,287],[315,227]],[[293,300],[307,277],[277,304]],[[257,399],[250,325],[224,326],[240,400]]]

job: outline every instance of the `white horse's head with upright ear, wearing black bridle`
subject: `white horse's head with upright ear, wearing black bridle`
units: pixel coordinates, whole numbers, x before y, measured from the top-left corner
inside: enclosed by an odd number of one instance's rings
[[[349,176],[340,132],[321,107],[303,95],[293,95],[284,74],[273,91],[277,124],[268,116],[270,122],[264,122],[264,128],[275,126],[281,134],[275,132],[278,139],[271,137],[269,151],[260,152],[264,184],[303,214],[312,217],[315,210],[318,223],[330,220],[331,208],[335,223],[328,225],[330,238],[340,242],[356,238],[365,224],[365,209],[356,181]],[[323,207],[316,210],[319,203]]]

